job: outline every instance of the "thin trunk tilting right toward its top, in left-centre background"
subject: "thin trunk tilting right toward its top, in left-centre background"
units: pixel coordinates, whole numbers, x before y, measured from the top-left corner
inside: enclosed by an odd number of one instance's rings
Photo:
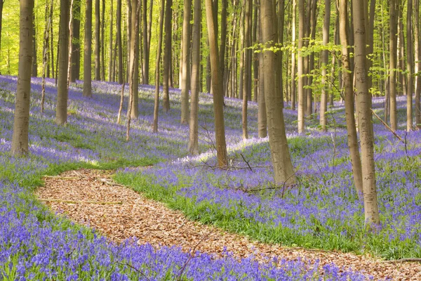
[[[151,6],[151,8],[152,8],[152,6]],[[161,65],[164,11],[165,11],[165,0],[162,0],[161,1],[161,13],[159,15],[158,50],[156,51],[156,64],[155,64],[154,123],[152,124],[152,131],[154,133],[158,132],[159,77],[160,77],[159,67]]]

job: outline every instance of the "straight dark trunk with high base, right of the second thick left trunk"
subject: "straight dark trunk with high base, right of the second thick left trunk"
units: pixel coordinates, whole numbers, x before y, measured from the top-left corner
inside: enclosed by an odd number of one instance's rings
[[[92,96],[92,0],[85,4],[85,43],[83,44],[83,96]]]

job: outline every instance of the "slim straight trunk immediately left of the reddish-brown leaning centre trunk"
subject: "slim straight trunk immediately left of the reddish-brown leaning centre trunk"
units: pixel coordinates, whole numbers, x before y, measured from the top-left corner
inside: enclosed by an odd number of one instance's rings
[[[201,0],[194,0],[192,37],[192,100],[189,127],[189,153],[199,154],[199,70],[200,70]]]

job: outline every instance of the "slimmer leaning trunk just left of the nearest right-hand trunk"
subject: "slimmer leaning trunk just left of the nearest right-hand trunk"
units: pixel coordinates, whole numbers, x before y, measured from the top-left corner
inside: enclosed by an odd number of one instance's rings
[[[354,118],[354,86],[352,85],[352,73],[349,65],[348,51],[348,23],[347,8],[348,0],[340,0],[340,41],[342,45],[342,77],[344,81],[345,93],[345,119],[347,122],[347,140],[349,148],[349,157],[351,158],[352,174],[354,175],[354,185],[356,192],[361,197],[363,195],[363,176],[361,170],[361,158],[359,154],[358,138],[356,136],[355,118]]]

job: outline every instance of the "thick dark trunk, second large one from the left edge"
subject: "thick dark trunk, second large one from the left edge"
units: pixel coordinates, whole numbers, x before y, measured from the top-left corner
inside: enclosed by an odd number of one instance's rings
[[[69,0],[60,0],[60,34],[58,45],[58,79],[57,105],[55,108],[55,123],[64,125],[67,122],[67,67],[69,61]]]

